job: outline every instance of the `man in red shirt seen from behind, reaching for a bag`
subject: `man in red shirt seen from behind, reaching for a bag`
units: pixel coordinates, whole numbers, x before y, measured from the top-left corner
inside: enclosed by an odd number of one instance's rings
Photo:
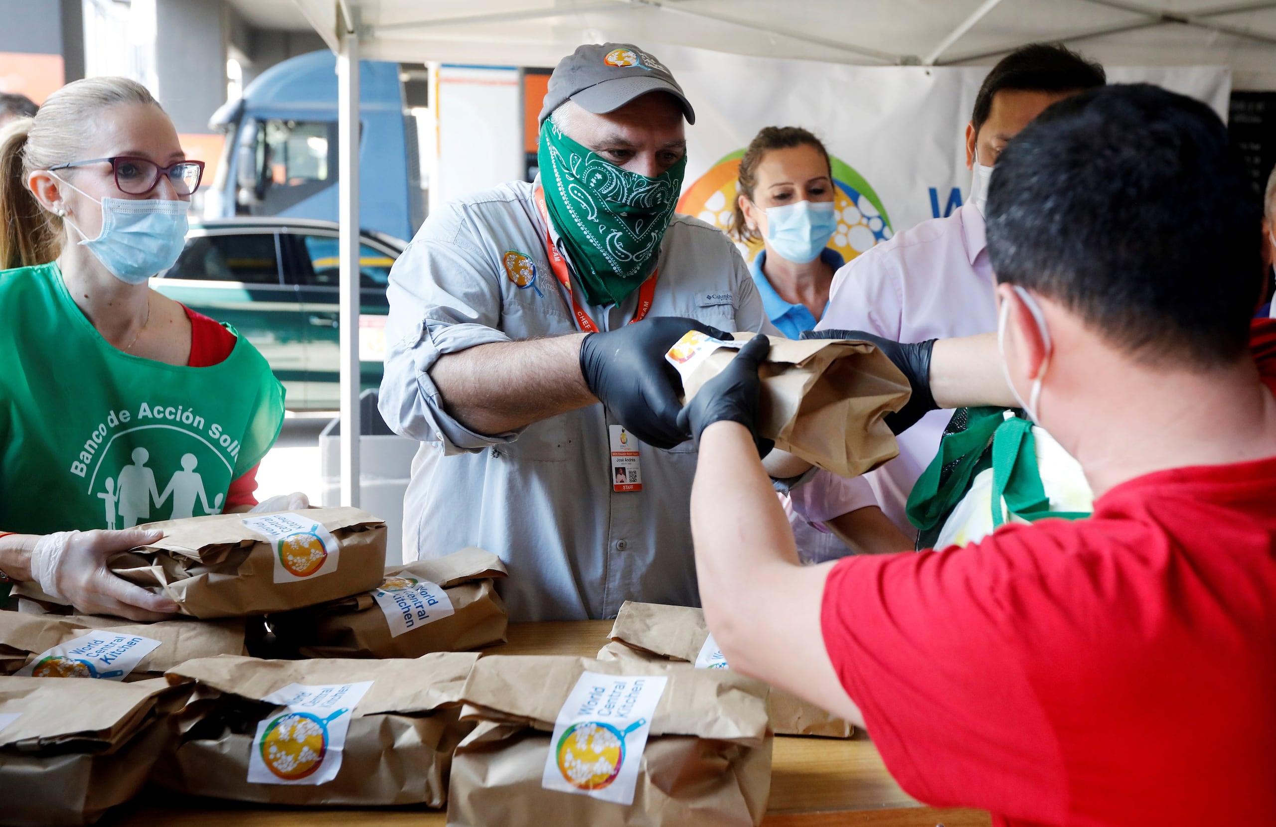
[[[1011,143],[988,200],[1002,355],[974,337],[897,364],[943,407],[1023,407],[1097,499],[962,549],[800,567],[754,449],[766,345],[743,348],[684,410],[701,597],[731,666],[864,724],[916,798],[999,824],[1276,823],[1259,240],[1197,101],[1095,89]]]

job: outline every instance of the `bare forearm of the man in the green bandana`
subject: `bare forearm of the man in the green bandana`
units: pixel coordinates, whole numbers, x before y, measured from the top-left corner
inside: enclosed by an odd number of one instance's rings
[[[581,374],[584,333],[493,342],[447,354],[430,369],[448,414],[480,434],[504,434],[596,403]]]

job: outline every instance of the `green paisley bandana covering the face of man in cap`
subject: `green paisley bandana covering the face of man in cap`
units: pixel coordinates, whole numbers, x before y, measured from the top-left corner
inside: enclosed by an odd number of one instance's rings
[[[537,154],[545,205],[584,297],[620,304],[651,276],[686,172],[686,156],[657,177],[621,170],[563,134],[541,128]]]

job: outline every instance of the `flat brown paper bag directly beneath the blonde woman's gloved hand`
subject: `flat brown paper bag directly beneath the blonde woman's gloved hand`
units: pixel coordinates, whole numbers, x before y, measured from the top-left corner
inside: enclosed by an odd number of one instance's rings
[[[92,629],[160,641],[124,680],[160,678],[195,657],[244,655],[244,619],[161,620],[134,623],[93,615],[38,615],[0,611],[0,675],[11,675],[42,652],[83,637]]]

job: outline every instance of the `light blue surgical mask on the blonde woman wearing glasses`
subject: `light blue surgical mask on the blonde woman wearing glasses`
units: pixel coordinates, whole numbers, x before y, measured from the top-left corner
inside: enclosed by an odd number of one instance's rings
[[[55,176],[57,177],[57,176]],[[85,236],[65,214],[63,221],[75,227],[87,246],[111,274],[126,285],[140,285],[176,263],[186,244],[186,209],[181,200],[148,198],[103,198],[97,200],[70,181],[57,177],[84,198],[102,207],[102,232]]]

